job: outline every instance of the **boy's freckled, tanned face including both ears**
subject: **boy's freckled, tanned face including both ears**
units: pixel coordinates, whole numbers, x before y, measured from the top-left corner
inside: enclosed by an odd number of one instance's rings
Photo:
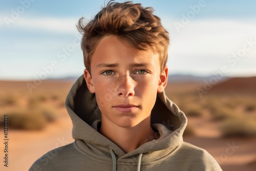
[[[167,82],[167,67],[160,73],[159,57],[140,51],[117,36],[105,36],[91,58],[91,75],[84,78],[95,93],[102,122],[133,127],[150,119],[157,92]]]

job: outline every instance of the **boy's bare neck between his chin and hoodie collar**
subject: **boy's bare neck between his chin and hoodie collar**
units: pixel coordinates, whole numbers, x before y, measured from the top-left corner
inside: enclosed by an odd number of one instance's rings
[[[124,153],[134,151],[145,142],[158,138],[152,129],[150,118],[147,118],[134,127],[116,127],[101,122],[100,134],[114,142]]]

